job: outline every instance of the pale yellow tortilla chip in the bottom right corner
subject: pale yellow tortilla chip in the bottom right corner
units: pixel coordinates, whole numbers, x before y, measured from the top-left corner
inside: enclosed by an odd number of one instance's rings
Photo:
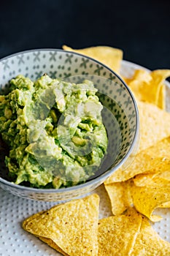
[[[140,232],[137,234],[131,256],[168,256],[170,255],[170,243],[163,240],[153,229],[146,218],[142,219]]]

